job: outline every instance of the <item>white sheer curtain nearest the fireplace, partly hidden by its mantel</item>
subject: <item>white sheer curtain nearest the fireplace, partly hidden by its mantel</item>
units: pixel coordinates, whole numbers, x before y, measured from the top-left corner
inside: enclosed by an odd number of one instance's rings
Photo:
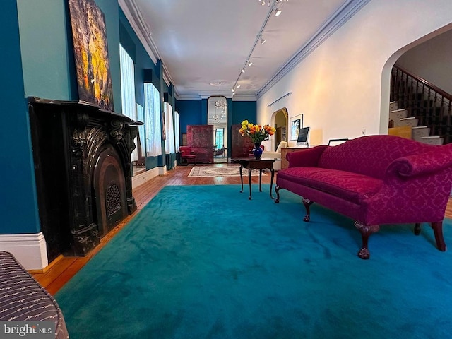
[[[133,66],[132,58],[121,44],[119,44],[119,62],[121,64],[122,114],[132,120],[138,120],[135,102],[135,67]],[[132,152],[132,161],[136,160],[138,160],[138,148],[135,148]]]

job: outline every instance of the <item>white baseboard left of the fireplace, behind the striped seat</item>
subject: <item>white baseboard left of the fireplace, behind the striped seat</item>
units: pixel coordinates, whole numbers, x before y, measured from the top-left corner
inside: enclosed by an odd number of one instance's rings
[[[0,234],[0,250],[8,251],[26,270],[42,270],[49,265],[44,234]]]

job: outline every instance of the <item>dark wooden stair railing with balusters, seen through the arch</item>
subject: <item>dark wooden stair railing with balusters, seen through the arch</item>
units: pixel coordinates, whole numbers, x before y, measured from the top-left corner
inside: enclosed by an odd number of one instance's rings
[[[408,117],[419,119],[418,126],[429,126],[431,136],[452,143],[452,95],[400,65],[391,73],[391,101],[407,109]]]

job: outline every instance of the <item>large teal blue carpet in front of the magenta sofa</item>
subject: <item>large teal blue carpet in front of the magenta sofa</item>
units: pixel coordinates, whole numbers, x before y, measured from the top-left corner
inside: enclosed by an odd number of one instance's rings
[[[450,338],[452,251],[428,225],[381,227],[363,261],[352,220],[246,189],[162,189],[57,293],[71,338]]]

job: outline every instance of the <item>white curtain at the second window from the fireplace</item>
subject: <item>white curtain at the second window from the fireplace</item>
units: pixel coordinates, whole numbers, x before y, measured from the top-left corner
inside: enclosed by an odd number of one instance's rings
[[[162,154],[162,124],[160,117],[160,94],[152,83],[144,84],[144,112],[146,155]]]

